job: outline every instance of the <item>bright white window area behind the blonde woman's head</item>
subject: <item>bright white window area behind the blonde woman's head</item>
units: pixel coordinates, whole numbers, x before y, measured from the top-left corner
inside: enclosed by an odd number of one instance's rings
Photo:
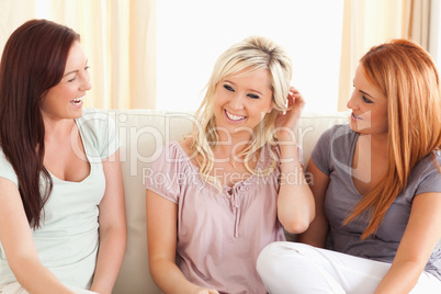
[[[343,0],[157,1],[158,109],[195,110],[217,57],[249,35],[293,59],[305,111],[337,110]]]

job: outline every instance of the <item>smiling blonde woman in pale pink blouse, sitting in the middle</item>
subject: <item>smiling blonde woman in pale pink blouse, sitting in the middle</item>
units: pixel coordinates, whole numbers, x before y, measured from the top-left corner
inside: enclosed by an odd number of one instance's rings
[[[193,133],[151,165],[149,264],[165,293],[267,293],[259,252],[285,239],[280,222],[302,233],[314,218],[293,136],[305,102],[290,88],[291,71],[268,38],[231,46],[214,67]]]

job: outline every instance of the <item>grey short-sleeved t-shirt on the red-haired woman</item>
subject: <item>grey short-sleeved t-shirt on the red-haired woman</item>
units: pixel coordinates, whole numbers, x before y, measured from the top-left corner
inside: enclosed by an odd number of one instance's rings
[[[325,199],[325,214],[330,225],[329,249],[392,263],[406,229],[414,197],[421,193],[441,192],[441,173],[431,156],[418,162],[410,172],[407,188],[388,208],[375,236],[361,240],[369,217],[358,217],[342,226],[362,197],[352,180],[352,158],[358,137],[349,125],[336,125],[321,135],[312,154],[314,163],[330,180]],[[436,156],[440,165],[441,152],[437,151]],[[438,245],[425,270],[441,280],[441,250]]]

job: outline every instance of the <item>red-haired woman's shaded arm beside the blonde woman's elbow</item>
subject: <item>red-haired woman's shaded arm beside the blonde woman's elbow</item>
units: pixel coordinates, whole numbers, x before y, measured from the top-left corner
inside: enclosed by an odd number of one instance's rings
[[[320,171],[313,159],[309,159],[306,173],[310,174],[309,188],[313,191],[316,204],[316,217],[309,228],[299,237],[299,241],[315,247],[325,248],[329,223],[325,216],[325,195],[329,184],[329,177]]]

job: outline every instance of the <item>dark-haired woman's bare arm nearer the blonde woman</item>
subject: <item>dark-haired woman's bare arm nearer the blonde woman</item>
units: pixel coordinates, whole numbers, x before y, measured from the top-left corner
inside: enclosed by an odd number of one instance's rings
[[[103,161],[105,192],[100,203],[100,247],[91,291],[111,294],[127,240],[124,185],[118,150]]]

